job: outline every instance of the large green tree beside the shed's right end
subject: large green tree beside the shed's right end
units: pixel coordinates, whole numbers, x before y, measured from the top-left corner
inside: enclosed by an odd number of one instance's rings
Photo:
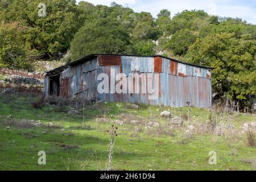
[[[223,32],[197,39],[187,55],[191,63],[213,67],[214,92],[245,100],[256,94],[256,41],[249,35]]]

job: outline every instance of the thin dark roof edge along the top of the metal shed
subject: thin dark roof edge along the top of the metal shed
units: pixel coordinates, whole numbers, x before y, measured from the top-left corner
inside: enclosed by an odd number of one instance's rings
[[[176,59],[173,59],[173,58],[170,58],[170,57],[159,56],[159,55],[143,56],[143,55],[122,55],[122,54],[119,55],[119,54],[107,54],[107,53],[94,53],[94,54],[90,54],[90,55],[81,57],[80,59],[77,59],[76,61],[72,61],[71,63],[63,65],[63,66],[61,66],[59,68],[55,68],[55,69],[53,69],[51,71],[48,71],[48,72],[46,72],[46,76],[58,75],[59,73],[63,72],[65,69],[68,69],[68,68],[73,67],[73,66],[78,65],[78,64],[86,63],[86,62],[92,60],[94,57],[101,56],[101,55],[108,55],[108,56],[136,56],[136,57],[162,57],[164,59],[169,59],[169,60],[175,61],[177,63],[183,63],[183,64],[186,64],[186,65],[191,65],[193,67],[214,69],[214,68],[210,68],[210,67],[204,67],[202,65],[195,65],[195,64],[185,63],[184,61],[176,60]]]

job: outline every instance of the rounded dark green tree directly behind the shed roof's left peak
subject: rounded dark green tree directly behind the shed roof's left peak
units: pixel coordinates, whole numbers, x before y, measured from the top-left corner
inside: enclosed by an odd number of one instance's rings
[[[131,52],[131,43],[125,27],[112,18],[86,22],[71,43],[73,60],[90,53]]]

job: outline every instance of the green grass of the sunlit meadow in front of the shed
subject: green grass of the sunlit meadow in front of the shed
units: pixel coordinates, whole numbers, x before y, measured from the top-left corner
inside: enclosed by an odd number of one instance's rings
[[[154,121],[164,125],[167,119],[160,118],[160,112],[170,110],[172,114],[186,114],[186,108],[174,109],[141,105],[139,110],[126,109],[122,103],[91,105],[82,115],[69,115],[56,111],[55,106],[34,109],[33,96],[0,96],[0,170],[102,170],[108,162],[109,133],[107,130],[115,119]],[[20,129],[11,126],[6,129],[8,115],[20,121],[35,119],[42,123],[52,122],[60,128],[46,126]],[[109,122],[98,122],[104,116]],[[191,122],[208,122],[207,109],[191,108]],[[220,121],[233,122],[238,128],[244,122],[255,121],[255,115],[217,115]],[[231,118],[231,119],[230,119]],[[227,120],[227,121],[226,121]],[[90,126],[82,127],[82,126]],[[185,123],[187,125],[187,123]],[[225,137],[213,140],[212,134],[193,135],[184,140],[184,128],[174,128],[174,134],[152,134],[142,131],[132,137],[134,125],[118,126],[114,146],[113,168],[125,170],[253,170],[243,159],[255,159],[256,148],[245,146],[245,136],[240,134],[237,142],[230,143]],[[43,132],[46,131],[46,134]],[[36,135],[36,137],[33,137]],[[185,142],[181,142],[185,141]],[[79,146],[67,150],[61,144]],[[232,155],[232,150],[237,155]],[[38,164],[38,152],[46,151],[47,164]],[[217,152],[217,165],[209,165],[208,153]]]

